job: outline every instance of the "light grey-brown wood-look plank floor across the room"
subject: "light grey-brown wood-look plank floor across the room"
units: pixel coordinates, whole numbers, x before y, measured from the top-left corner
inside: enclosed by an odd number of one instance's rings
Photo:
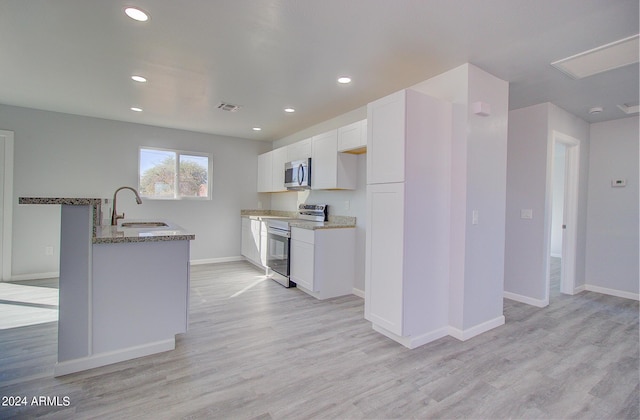
[[[639,417],[638,302],[583,292],[504,312],[468,341],[408,350],[358,297],[317,301],[244,262],[195,266],[171,352],[53,378],[56,322],[0,330],[0,397],[69,398],[0,418]]]

